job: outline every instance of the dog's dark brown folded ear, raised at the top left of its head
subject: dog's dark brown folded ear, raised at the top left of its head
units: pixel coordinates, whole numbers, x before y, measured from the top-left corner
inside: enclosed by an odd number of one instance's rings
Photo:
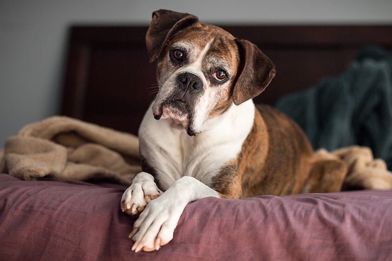
[[[158,10],[152,13],[152,21],[146,35],[146,45],[150,62],[155,61],[165,43],[178,31],[199,23],[196,16],[170,10]]]

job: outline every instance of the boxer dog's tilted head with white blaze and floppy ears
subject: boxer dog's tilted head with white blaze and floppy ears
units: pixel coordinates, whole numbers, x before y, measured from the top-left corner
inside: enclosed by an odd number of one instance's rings
[[[259,95],[275,75],[274,65],[258,47],[217,26],[200,24],[190,14],[154,12],[146,44],[150,62],[157,60],[154,117],[169,118],[172,127],[190,136],[233,103]]]

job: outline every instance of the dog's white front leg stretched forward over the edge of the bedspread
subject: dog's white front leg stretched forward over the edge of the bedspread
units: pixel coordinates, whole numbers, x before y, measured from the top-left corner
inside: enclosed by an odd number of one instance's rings
[[[161,196],[151,200],[140,214],[129,237],[135,241],[132,250],[152,251],[167,244],[186,205],[200,198],[219,193],[193,177],[176,180]]]

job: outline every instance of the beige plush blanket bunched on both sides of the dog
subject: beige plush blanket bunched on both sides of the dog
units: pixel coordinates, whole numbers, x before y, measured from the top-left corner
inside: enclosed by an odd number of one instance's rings
[[[367,147],[334,152],[320,149],[316,153],[346,164],[343,189],[392,189],[392,173],[383,160],[373,158]],[[25,126],[6,141],[0,158],[1,173],[23,180],[110,179],[129,185],[141,171],[136,136],[68,117],[52,117]]]

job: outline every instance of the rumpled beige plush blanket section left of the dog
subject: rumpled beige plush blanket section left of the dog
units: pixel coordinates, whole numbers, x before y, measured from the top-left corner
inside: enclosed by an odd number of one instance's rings
[[[23,180],[109,179],[130,184],[140,171],[136,136],[68,117],[25,126],[7,139],[0,162],[1,173]]]

